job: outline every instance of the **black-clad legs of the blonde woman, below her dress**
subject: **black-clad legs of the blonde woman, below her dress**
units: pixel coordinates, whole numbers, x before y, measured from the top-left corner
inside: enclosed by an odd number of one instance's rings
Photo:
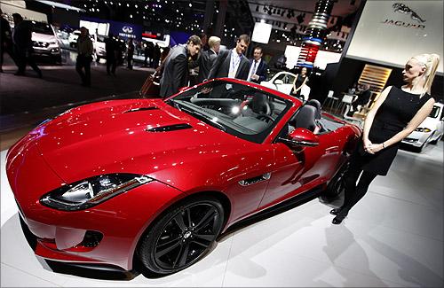
[[[360,181],[356,183],[360,175]],[[361,168],[351,165],[344,177],[345,196],[340,215],[346,216],[350,209],[364,197],[367,191],[369,191],[370,183],[376,176],[377,174],[373,172],[363,171]]]

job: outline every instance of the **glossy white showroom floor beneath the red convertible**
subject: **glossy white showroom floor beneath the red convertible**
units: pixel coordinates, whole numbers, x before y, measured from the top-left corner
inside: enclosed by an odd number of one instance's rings
[[[314,199],[222,237],[172,276],[110,281],[44,269],[20,230],[1,152],[1,286],[443,286],[443,143],[400,151],[342,225]]]

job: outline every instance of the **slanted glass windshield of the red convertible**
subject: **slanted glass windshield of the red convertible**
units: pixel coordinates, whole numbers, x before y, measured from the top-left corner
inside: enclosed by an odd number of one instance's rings
[[[250,85],[213,81],[194,86],[167,104],[233,136],[262,143],[292,102]]]

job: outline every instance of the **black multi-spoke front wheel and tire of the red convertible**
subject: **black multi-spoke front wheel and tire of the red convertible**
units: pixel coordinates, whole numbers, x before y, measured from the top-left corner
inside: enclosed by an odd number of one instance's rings
[[[159,216],[142,236],[139,260],[155,274],[172,274],[202,259],[224,223],[217,198],[188,198]]]

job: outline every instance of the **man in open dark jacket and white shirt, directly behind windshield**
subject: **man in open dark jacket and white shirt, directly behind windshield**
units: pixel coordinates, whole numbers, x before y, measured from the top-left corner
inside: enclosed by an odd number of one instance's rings
[[[208,79],[213,78],[237,78],[247,80],[250,70],[250,61],[243,55],[250,44],[250,36],[240,35],[236,46],[232,50],[220,51]]]

